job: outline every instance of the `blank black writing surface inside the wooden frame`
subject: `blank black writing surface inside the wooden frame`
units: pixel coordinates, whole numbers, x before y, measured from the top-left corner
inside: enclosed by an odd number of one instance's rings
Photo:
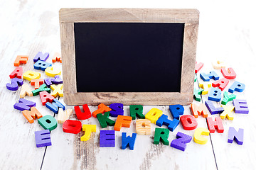
[[[74,23],[78,92],[180,92],[184,23]]]

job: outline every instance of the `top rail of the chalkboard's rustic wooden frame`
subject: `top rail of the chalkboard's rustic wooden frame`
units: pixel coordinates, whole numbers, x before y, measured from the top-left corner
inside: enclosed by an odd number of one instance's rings
[[[61,8],[60,22],[198,23],[196,9]]]

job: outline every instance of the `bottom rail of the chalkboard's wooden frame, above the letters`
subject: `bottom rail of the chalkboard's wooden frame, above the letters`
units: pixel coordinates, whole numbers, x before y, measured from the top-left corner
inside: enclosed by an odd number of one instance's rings
[[[131,103],[148,105],[169,105],[181,104],[188,105],[191,103],[191,94],[181,93],[66,93],[64,102],[71,105],[98,105],[100,103],[123,103],[129,105]]]

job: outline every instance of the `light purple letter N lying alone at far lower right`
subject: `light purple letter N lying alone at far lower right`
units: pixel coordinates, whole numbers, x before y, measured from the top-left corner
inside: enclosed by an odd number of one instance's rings
[[[240,129],[238,132],[235,130],[235,128],[230,127],[228,130],[228,143],[233,143],[233,140],[235,139],[235,142],[238,143],[238,145],[242,145],[243,143],[243,134],[244,130]]]

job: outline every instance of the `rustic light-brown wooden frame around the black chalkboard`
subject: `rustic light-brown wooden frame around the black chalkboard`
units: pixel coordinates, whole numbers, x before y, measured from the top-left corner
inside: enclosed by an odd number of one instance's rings
[[[188,105],[193,101],[199,12],[196,9],[159,8],[61,8],[60,39],[63,60],[64,102],[68,105],[123,103],[142,105]],[[185,23],[181,91],[177,92],[77,92],[74,23]]]

